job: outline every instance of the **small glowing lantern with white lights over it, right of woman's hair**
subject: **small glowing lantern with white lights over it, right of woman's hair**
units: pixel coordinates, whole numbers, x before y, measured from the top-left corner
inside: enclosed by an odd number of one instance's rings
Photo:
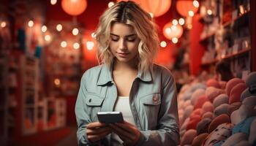
[[[183,34],[183,28],[180,25],[173,26],[172,23],[166,23],[162,31],[164,36],[170,40],[173,37],[180,38]]]

